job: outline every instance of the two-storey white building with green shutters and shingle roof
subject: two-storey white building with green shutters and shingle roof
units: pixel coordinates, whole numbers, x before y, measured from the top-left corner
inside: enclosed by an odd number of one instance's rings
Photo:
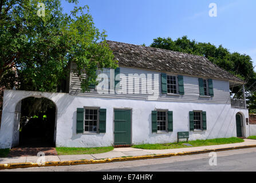
[[[205,57],[108,41],[119,68],[98,71],[99,85],[83,93],[70,64],[65,93],[5,90],[0,148],[19,142],[21,101],[56,104],[56,146],[94,147],[247,137],[246,100],[230,98],[244,82]]]

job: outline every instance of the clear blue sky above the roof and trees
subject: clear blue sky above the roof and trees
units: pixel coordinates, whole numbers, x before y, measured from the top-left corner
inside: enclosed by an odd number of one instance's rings
[[[217,17],[208,15],[210,3],[216,3]],[[84,5],[109,40],[149,46],[157,37],[187,35],[249,54],[256,65],[255,0],[80,0],[78,6]],[[73,9],[65,1],[62,6],[65,12]]]

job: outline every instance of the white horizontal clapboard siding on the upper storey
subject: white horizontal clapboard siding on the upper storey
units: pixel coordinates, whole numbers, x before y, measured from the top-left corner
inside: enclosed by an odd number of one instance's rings
[[[103,72],[108,75],[109,69],[104,69]],[[91,90],[89,93],[83,93],[80,87],[80,79],[73,72],[70,74],[70,87],[69,93],[71,95],[77,96],[87,96],[87,97],[107,97],[107,98],[131,98],[131,99],[140,99],[140,100],[148,100],[149,96],[152,94],[147,93],[147,87],[141,87],[141,79],[139,79],[139,94],[135,93],[135,82],[131,86],[128,86],[129,79],[132,80],[133,77],[129,74],[137,74],[135,78],[138,78],[138,75],[145,74],[148,78],[148,74],[152,74],[152,79],[148,79],[151,81],[155,87],[157,87],[157,92],[159,93],[159,97],[157,100],[159,101],[180,101],[180,102],[212,102],[212,103],[225,103],[230,104],[230,93],[229,93],[229,81],[220,81],[216,79],[212,79],[212,83],[214,86],[214,97],[199,97],[199,85],[198,85],[198,77],[190,77],[183,75],[184,81],[184,96],[171,96],[167,94],[162,94],[162,85],[161,85],[161,73],[157,71],[151,70],[142,70],[142,69],[134,69],[129,67],[120,67],[120,73],[125,74],[127,77],[127,92],[125,94],[99,94],[96,90]],[[157,81],[154,82],[153,75],[158,74]],[[133,75],[134,76],[134,75]],[[121,83],[124,81],[120,81]],[[147,85],[147,82],[146,82]],[[136,85],[137,89],[137,85]],[[132,93],[129,93],[132,92]]]

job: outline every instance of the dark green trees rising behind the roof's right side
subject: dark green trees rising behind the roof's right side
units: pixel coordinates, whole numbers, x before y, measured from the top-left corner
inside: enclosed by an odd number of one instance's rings
[[[222,69],[229,71],[231,74],[236,75],[246,82],[245,89],[246,96],[249,99],[249,101],[247,101],[249,109],[256,109],[256,72],[254,71],[253,62],[249,55],[239,54],[237,52],[230,53],[230,51],[222,45],[216,47],[211,43],[196,42],[195,40],[191,41],[187,36],[178,38],[176,41],[173,41],[170,37],[159,37],[153,39],[151,47],[201,55],[208,58],[212,63],[215,63]],[[232,92],[237,93],[237,98],[243,97],[241,90],[241,86],[232,88]]]

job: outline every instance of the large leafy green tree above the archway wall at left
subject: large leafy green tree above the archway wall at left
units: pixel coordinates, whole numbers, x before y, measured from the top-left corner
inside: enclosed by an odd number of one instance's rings
[[[39,2],[45,4],[45,17],[37,15]],[[96,68],[117,66],[107,35],[94,26],[88,6],[75,6],[66,14],[60,0],[6,0],[0,13],[0,87],[16,83],[21,90],[56,92],[73,61],[85,91],[96,81]]]

